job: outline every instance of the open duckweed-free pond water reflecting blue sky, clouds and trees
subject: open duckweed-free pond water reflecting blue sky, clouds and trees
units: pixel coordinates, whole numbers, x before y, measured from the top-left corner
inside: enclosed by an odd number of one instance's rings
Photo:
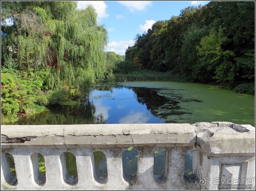
[[[165,120],[157,116],[155,110],[166,102],[164,96],[159,96],[151,89],[98,87],[84,103],[54,105],[47,111],[23,117],[10,124],[164,123]]]

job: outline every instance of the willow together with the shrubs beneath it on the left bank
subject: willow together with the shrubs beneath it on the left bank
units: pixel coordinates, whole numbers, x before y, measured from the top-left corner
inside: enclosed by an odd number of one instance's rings
[[[42,110],[104,76],[107,30],[75,1],[1,2],[1,114]],[[88,91],[87,91],[88,92]]]

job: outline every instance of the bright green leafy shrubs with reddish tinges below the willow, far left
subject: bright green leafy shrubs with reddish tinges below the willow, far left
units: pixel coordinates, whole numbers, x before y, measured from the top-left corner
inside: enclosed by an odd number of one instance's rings
[[[1,73],[1,111],[6,116],[26,115],[29,110],[40,111],[47,99],[40,90],[43,81],[32,71]]]

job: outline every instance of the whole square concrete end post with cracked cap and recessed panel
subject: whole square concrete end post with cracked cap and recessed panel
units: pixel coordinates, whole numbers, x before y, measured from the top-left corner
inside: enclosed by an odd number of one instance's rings
[[[201,190],[255,190],[255,128],[230,122],[193,125],[193,174]]]

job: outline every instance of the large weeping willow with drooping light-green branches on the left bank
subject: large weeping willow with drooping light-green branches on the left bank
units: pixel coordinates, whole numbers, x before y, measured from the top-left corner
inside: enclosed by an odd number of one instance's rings
[[[46,75],[49,89],[90,87],[103,75],[108,41],[96,19],[92,6],[77,9],[72,1],[3,2],[2,53],[13,52],[19,69]]]

